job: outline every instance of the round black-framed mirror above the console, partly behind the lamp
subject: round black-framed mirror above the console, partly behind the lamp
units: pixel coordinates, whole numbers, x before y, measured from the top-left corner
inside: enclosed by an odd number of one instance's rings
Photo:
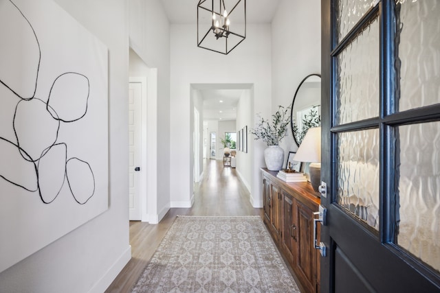
[[[290,127],[296,145],[300,146],[307,130],[321,125],[321,75],[307,75],[296,89],[292,109],[290,110]]]

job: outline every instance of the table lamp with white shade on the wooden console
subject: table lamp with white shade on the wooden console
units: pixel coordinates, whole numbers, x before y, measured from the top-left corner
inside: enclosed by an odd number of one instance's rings
[[[303,142],[296,151],[294,160],[298,162],[311,163],[309,166],[309,177],[311,186],[316,192],[321,181],[321,128],[309,128]]]

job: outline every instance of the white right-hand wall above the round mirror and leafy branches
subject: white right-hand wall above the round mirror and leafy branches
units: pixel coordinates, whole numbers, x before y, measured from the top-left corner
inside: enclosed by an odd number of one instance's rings
[[[321,73],[320,0],[281,0],[272,21],[272,113],[292,104],[296,88],[311,73]],[[280,145],[285,162],[289,151],[297,150],[290,125],[287,133]]]

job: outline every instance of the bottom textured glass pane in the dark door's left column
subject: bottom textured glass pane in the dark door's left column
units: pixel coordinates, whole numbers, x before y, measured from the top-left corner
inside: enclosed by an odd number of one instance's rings
[[[338,134],[338,204],[379,229],[379,130]]]

